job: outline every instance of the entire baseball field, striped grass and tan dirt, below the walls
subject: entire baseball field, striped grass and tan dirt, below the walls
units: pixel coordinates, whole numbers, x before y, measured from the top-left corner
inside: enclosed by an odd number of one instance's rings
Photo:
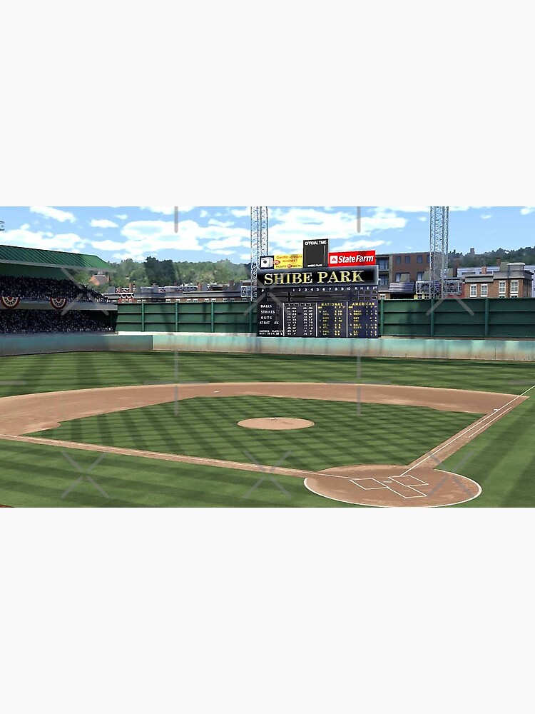
[[[13,507],[535,506],[535,364],[0,358]]]

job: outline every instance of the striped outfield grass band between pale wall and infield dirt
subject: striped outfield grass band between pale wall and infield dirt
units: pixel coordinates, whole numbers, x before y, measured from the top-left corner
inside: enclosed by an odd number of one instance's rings
[[[535,384],[535,365],[521,362],[362,358],[362,381],[521,393]],[[81,352],[0,358],[0,396],[174,381],[173,352]],[[179,381],[357,381],[357,358],[178,353]]]

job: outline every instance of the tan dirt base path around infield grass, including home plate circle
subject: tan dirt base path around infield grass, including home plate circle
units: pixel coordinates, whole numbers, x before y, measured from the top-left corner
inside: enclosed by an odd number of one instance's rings
[[[483,413],[484,416],[407,466],[371,464],[330,468],[322,472],[24,436],[56,428],[63,421],[85,416],[194,397],[244,395],[402,404],[441,411]],[[215,468],[238,468],[246,471],[258,471],[262,468],[274,476],[279,474],[304,478],[305,486],[310,491],[325,498],[363,506],[447,506],[475,498],[481,488],[464,476],[439,471],[433,467],[526,398],[528,397],[495,392],[356,383],[213,382],[109,387],[0,398],[0,438],[61,448],[83,448],[88,451],[183,461]],[[283,406],[283,401],[277,406],[277,419],[280,419],[281,426],[285,421]]]

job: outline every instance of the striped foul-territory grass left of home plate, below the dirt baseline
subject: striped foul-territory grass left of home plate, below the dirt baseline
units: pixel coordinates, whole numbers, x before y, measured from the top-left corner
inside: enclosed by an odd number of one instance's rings
[[[0,503],[44,508],[352,508],[307,491],[300,478],[277,476],[286,493],[268,478],[254,488],[261,472],[203,468],[188,463],[151,461],[107,454],[90,472],[109,496],[86,478],[62,498],[74,481],[87,473],[98,453],[69,450],[81,471],[61,455],[61,448],[2,442],[6,464],[0,473]],[[253,489],[251,491],[251,489]]]

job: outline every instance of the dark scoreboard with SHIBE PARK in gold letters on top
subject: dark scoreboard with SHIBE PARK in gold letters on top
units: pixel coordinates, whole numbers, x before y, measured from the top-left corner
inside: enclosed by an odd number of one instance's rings
[[[259,337],[379,337],[375,266],[358,271],[258,271],[258,281]]]

